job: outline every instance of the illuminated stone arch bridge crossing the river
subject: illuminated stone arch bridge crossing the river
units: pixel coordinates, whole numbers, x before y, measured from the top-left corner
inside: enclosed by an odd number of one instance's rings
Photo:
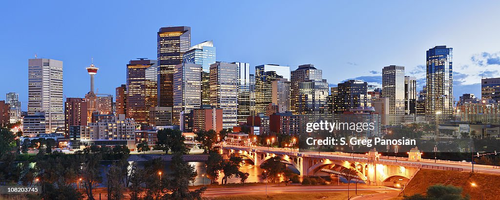
[[[298,152],[290,148],[268,148],[260,146],[222,145],[220,153],[236,153],[247,157],[255,165],[265,163],[271,157],[279,157],[283,163],[296,169],[301,176],[323,176],[339,174],[344,169],[354,169],[359,179],[371,185],[390,185],[395,179],[407,181],[420,168],[429,168],[430,164],[441,165],[441,170],[461,171],[467,163],[445,160],[421,159],[419,150],[408,152],[408,157],[381,159],[373,149],[366,154],[343,152]],[[462,168],[460,168],[462,166]],[[500,170],[498,170],[500,172]]]

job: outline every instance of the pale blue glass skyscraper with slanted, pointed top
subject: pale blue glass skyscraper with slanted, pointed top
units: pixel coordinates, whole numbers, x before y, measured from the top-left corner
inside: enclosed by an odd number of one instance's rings
[[[210,64],[215,63],[215,47],[212,41],[191,46],[182,56],[182,62],[201,65],[201,103],[210,104]]]

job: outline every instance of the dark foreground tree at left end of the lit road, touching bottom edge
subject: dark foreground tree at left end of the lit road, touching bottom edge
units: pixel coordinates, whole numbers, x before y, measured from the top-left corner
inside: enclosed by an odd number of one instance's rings
[[[189,190],[189,183],[194,182],[197,172],[193,165],[189,165],[182,159],[180,152],[173,154],[170,169],[172,173],[168,175],[167,187],[171,193],[165,194],[167,199],[201,199],[201,194],[206,187]]]

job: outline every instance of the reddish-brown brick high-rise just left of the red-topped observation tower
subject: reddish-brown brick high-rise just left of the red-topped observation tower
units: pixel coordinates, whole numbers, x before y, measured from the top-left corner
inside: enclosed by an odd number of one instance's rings
[[[84,98],[66,98],[64,102],[64,127],[69,133],[71,125],[87,125],[87,103]]]

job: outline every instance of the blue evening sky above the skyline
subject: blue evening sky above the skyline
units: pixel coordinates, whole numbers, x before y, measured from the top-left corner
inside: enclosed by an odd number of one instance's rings
[[[499,76],[497,1],[7,1],[0,12],[0,94],[27,104],[27,59],[62,60],[64,94],[89,90],[85,67],[99,67],[95,85],[111,93],[125,83],[125,65],[156,58],[161,26],[191,26],[191,43],[213,40],[217,60],[288,65],[312,63],[334,85],[379,82],[383,66],[404,65],[424,78],[425,50],[453,47],[455,98],[480,94],[480,77]],[[424,69],[424,68],[423,68]],[[379,83],[378,83],[379,84]],[[380,84],[379,84],[380,85]],[[420,88],[418,88],[419,90]],[[0,97],[4,99],[4,97]]]

